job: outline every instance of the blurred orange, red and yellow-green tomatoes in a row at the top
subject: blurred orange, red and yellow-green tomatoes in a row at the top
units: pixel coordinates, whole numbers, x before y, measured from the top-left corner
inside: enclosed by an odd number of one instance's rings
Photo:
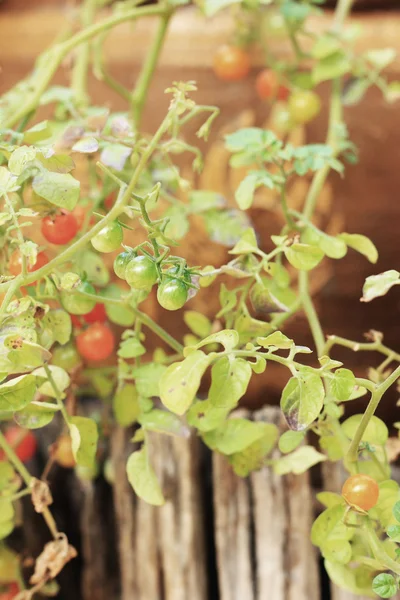
[[[237,46],[221,46],[214,56],[214,72],[222,81],[239,81],[250,73],[249,54]],[[282,77],[272,69],[263,69],[257,75],[255,88],[262,100],[287,101],[287,110],[293,125],[312,121],[321,110],[321,100],[312,90],[290,90]]]

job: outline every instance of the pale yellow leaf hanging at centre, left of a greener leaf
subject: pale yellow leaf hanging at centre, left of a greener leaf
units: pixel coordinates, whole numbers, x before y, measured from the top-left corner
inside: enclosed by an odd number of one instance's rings
[[[196,350],[167,368],[160,379],[160,398],[166,408],[178,415],[188,410],[210,360],[207,354]]]

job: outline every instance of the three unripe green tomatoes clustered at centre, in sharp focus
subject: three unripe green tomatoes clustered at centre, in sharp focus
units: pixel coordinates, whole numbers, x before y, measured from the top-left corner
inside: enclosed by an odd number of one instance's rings
[[[118,254],[114,261],[117,277],[124,279],[134,290],[150,292],[160,279],[159,268],[154,259],[148,255],[136,254],[127,250]],[[171,267],[162,273],[157,289],[157,300],[166,310],[178,310],[188,299],[190,275],[179,276],[179,268]]]

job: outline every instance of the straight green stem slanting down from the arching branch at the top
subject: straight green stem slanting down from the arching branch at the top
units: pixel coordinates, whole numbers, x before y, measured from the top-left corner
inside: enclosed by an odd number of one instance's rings
[[[147,54],[146,60],[142,66],[139,77],[137,79],[134,92],[132,94],[131,106],[133,113],[133,120],[137,128],[139,128],[140,120],[142,117],[143,107],[146,100],[147,92],[153,78],[154,70],[156,68],[158,57],[162,50],[165,36],[168,31],[169,21],[172,16],[172,11],[169,9],[162,17],[161,21],[153,40],[153,44],[150,51]]]

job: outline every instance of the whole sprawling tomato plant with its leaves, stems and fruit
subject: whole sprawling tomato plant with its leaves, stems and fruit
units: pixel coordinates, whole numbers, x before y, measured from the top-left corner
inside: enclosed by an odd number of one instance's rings
[[[351,269],[353,251],[372,265],[379,258],[372,240],[340,230],[337,215],[331,223],[325,213],[321,218],[328,177],[346,176],[357,159],[345,107],[364,102],[370,88],[389,102],[400,96],[399,82],[385,72],[393,50],[365,49],[346,28],[352,3],[338,0],[332,23],[325,28],[321,21],[318,32],[309,20],[321,12],[315,0],[206,0],[198,7],[210,16],[235,4],[231,39],[212,61],[227,103],[229,94],[246,89],[254,100],[253,69],[255,92],[271,100],[257,105],[257,112],[270,111],[268,125],[264,114],[262,123],[259,115],[235,115],[234,126],[223,115],[224,136],[211,152],[218,177],[210,176],[210,160],[204,177],[197,172],[199,146],[207,147],[219,108],[198,103],[196,84],[175,77],[165,113],[158,98],[149,97],[182,2],[83,0],[74,27],[0,98],[1,597],[16,592],[14,582],[29,588],[24,597],[50,594],[49,579],[76,554],[52,515],[54,463],[73,468],[68,477],[91,493],[101,475],[120,484],[122,464],[133,492],[154,506],[165,502],[153,469],[154,432],[197,436],[225,455],[237,476],[341,464],[347,472],[342,494],[318,496],[325,509],[311,540],[335,584],[362,596],[397,593],[400,490],[391,478],[388,428],[375,412],[398,385],[400,354],[374,330],[364,342],[327,336],[311,293],[321,280],[315,269],[325,261],[348,261]],[[104,42],[115,26],[148,16],[159,27],[130,90],[108,72]],[[65,64],[70,84],[53,85]],[[107,108],[96,104],[92,74],[112,97],[119,95],[118,112],[111,99]],[[152,133],[143,126],[146,106],[157,119]],[[304,126],[322,112],[318,143],[312,143],[314,128]],[[193,176],[184,157],[193,161]],[[221,157],[226,163],[220,165]],[[235,189],[226,200],[228,157]],[[302,190],[301,202],[293,189]],[[265,198],[276,213],[270,238],[258,231]],[[209,264],[218,244],[225,250]],[[113,252],[119,254],[103,256]],[[400,284],[399,271],[376,269],[364,284],[363,302]],[[160,307],[176,314],[166,318]],[[301,334],[296,340],[286,335],[300,314],[310,347]],[[338,323],[337,331],[343,329]],[[344,354],[349,362],[342,363],[340,348],[371,359],[355,363]],[[253,380],[267,388],[274,367],[286,372],[280,392],[285,430],[232,419]],[[361,396],[367,402],[355,405]],[[365,408],[357,413],[359,406]],[[129,444],[126,464],[122,434]],[[49,460],[38,475],[37,440],[45,436],[51,441],[40,448],[48,447]],[[36,454],[33,476],[25,463]],[[11,550],[24,536],[8,540],[21,526],[22,498],[32,501],[52,537],[29,582]],[[49,555],[51,569],[43,568]]]

